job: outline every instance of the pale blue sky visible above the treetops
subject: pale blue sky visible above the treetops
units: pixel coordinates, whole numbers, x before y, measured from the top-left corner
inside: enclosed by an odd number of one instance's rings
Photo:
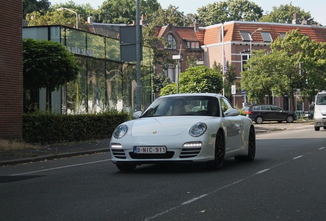
[[[104,2],[104,0],[72,0],[76,4],[91,4],[91,6],[94,9],[97,9],[99,6],[101,6]],[[223,0],[225,1],[225,0]],[[273,0],[273,1],[267,1],[267,0],[249,0],[250,2],[256,3],[258,6],[260,6],[265,14],[266,12],[272,11],[273,6],[279,7],[280,5],[286,5],[290,4],[292,2],[293,6],[300,7],[305,12],[310,12],[311,16],[314,17],[314,20],[320,23],[323,26],[326,26],[326,15],[325,9],[326,9],[326,1],[325,0]],[[66,3],[69,2],[69,0],[49,0],[51,4],[55,3]],[[157,0],[157,2],[162,6],[162,8],[166,9],[169,5],[173,5],[175,7],[179,7],[180,12],[184,12],[184,14],[188,13],[197,13],[197,9],[201,8],[202,6],[206,6],[207,4],[212,4],[214,0]]]

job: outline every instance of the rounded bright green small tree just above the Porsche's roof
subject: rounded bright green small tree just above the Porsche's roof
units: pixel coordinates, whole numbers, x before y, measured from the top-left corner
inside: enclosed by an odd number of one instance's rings
[[[220,93],[223,89],[222,75],[206,66],[188,68],[179,75],[179,93]],[[161,89],[161,96],[176,94],[176,83]]]

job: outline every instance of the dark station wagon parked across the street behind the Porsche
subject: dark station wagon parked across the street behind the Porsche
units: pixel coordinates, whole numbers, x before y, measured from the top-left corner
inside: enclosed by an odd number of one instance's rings
[[[242,107],[242,110],[246,112],[246,116],[257,124],[261,124],[263,121],[287,121],[292,123],[297,120],[297,114],[291,111],[284,111],[281,107],[270,104],[253,104]]]

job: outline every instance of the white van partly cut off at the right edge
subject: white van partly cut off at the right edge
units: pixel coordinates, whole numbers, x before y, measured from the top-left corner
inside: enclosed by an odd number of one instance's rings
[[[326,129],[326,91],[319,92],[316,96],[314,126],[315,130],[320,127]]]

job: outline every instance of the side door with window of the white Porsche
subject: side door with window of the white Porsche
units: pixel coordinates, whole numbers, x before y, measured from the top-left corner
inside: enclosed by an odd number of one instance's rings
[[[227,109],[234,108],[229,100],[226,98],[220,99],[220,105],[222,109],[222,113],[225,113]],[[225,127],[226,127],[226,151],[237,149],[241,145],[242,139],[242,121],[240,116],[235,117],[226,117],[225,119]]]

